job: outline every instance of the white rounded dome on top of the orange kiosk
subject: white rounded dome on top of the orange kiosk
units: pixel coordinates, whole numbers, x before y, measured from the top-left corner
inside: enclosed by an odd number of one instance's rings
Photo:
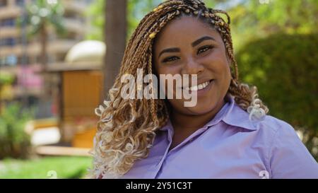
[[[74,45],[65,57],[68,64],[93,62],[102,64],[105,57],[106,45],[97,40],[86,40]]]

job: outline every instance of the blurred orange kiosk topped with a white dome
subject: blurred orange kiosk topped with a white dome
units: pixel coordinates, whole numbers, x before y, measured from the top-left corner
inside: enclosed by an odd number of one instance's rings
[[[61,141],[77,148],[92,148],[96,131],[95,108],[102,101],[104,42],[86,40],[74,45],[65,62],[49,66],[59,76],[59,122]]]

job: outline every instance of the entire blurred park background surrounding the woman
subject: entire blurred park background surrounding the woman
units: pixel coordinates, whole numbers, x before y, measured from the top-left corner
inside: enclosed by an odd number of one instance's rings
[[[160,2],[0,0],[0,178],[86,177],[94,109],[131,33]],[[317,160],[318,1],[205,3],[230,14],[241,81]]]

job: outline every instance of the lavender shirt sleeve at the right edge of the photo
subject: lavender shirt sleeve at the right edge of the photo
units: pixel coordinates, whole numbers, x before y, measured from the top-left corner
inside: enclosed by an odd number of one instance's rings
[[[318,178],[318,164],[293,127],[280,123],[271,144],[271,178]]]

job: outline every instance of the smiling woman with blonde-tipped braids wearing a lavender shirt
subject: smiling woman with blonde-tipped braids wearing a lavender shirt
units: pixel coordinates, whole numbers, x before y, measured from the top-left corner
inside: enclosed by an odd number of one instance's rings
[[[176,87],[173,98],[123,99],[121,77],[138,69],[196,75],[181,88],[196,105],[176,99]],[[293,127],[266,115],[257,89],[240,83],[224,11],[197,0],[160,4],[136,28],[117,77],[96,110],[93,177],[318,178]]]

